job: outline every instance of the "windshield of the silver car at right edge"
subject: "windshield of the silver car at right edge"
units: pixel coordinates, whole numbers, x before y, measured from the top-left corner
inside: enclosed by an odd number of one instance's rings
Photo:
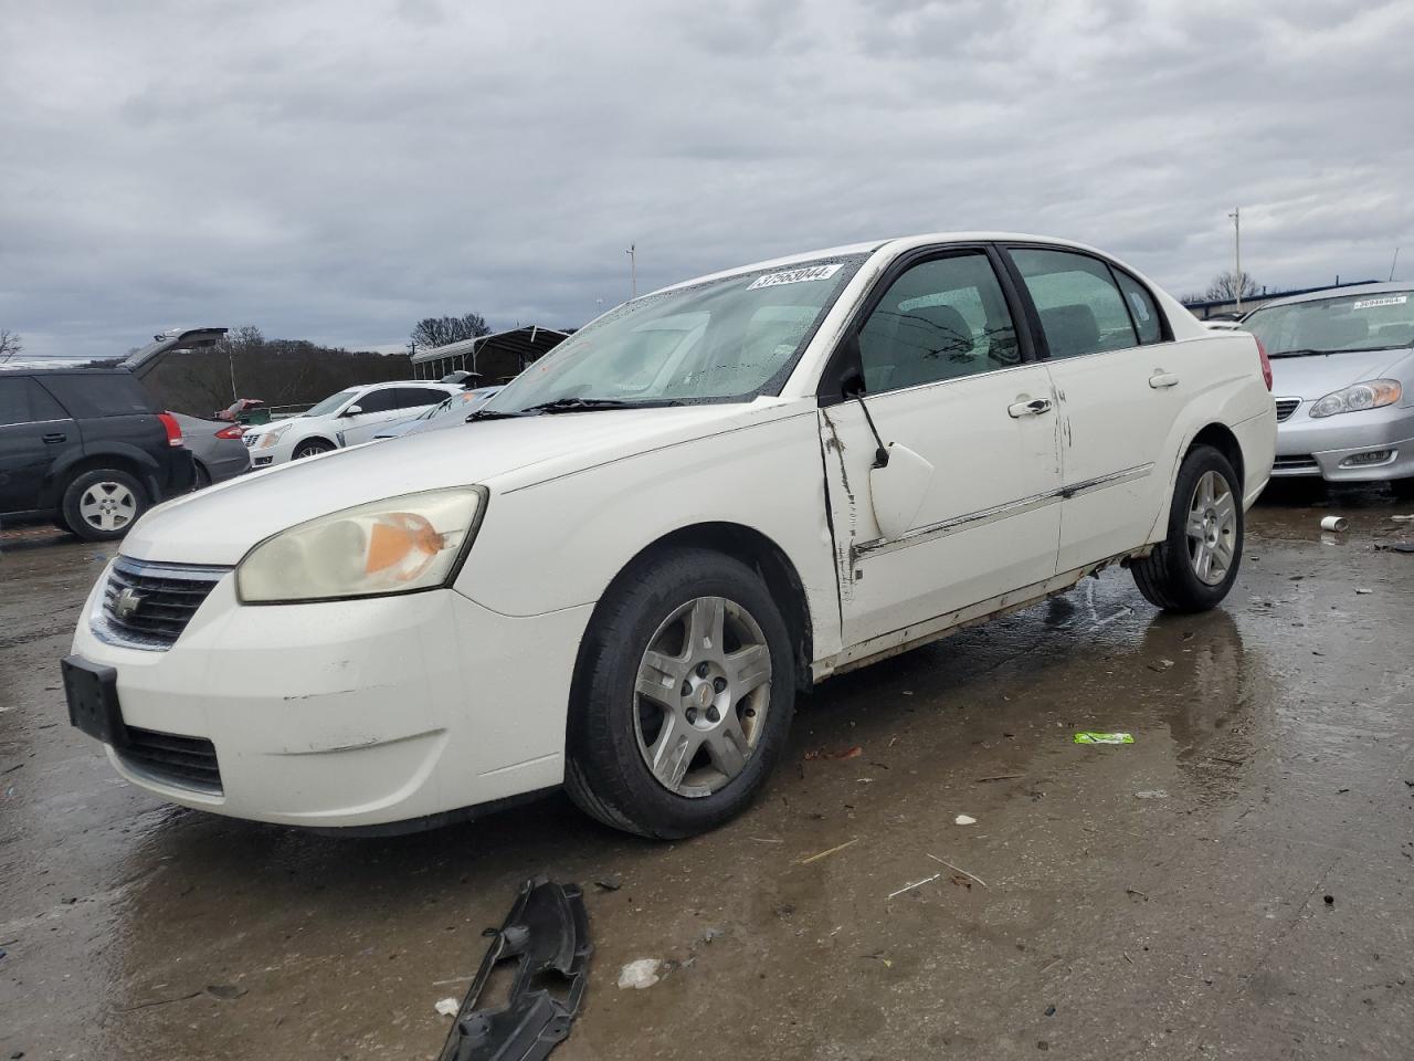
[[[1414,344],[1410,291],[1376,291],[1253,310],[1241,327],[1271,356],[1397,349]]]

